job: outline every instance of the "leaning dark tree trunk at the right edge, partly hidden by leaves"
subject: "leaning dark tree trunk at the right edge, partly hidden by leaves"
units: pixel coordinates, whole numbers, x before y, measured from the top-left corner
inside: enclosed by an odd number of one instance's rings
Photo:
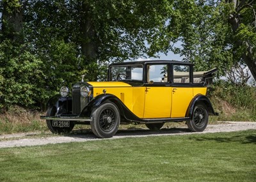
[[[244,5],[245,1],[237,1],[237,0],[228,0],[226,3],[233,3],[234,8],[236,10],[236,13],[230,14],[230,18],[228,22],[230,23],[232,27],[232,31],[234,34],[237,33],[237,29],[239,28],[241,22],[239,19],[239,11],[241,11],[241,7]],[[246,52],[242,55],[242,58],[248,68],[250,69],[250,72],[252,73],[253,78],[256,80],[256,59],[253,58],[252,54],[252,46],[248,42],[242,42],[241,40],[236,41],[237,47],[241,45],[246,45]]]

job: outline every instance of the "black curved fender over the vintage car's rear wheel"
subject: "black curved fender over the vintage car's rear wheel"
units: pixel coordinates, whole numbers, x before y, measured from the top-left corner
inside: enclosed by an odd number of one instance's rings
[[[188,110],[186,112],[186,117],[192,118],[193,110],[196,106],[196,103],[202,102],[206,105],[207,110],[209,112],[209,115],[211,116],[218,116],[219,114],[217,112],[214,112],[214,109],[212,107],[212,103],[205,95],[196,95],[193,100],[189,103]]]

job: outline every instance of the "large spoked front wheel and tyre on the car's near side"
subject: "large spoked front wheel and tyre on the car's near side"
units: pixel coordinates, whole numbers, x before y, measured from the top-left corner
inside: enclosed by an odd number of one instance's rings
[[[92,112],[92,132],[99,138],[115,135],[120,125],[120,114],[115,104],[106,102]]]

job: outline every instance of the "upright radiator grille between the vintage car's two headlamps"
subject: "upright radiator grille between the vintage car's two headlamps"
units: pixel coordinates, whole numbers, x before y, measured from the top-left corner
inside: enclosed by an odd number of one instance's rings
[[[79,115],[84,107],[88,104],[88,98],[80,94],[80,86],[72,89],[72,114]]]

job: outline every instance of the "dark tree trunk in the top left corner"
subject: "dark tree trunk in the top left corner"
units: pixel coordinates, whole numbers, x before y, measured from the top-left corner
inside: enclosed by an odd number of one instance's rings
[[[21,43],[22,32],[22,6],[21,2],[3,1],[2,34],[15,43]]]

